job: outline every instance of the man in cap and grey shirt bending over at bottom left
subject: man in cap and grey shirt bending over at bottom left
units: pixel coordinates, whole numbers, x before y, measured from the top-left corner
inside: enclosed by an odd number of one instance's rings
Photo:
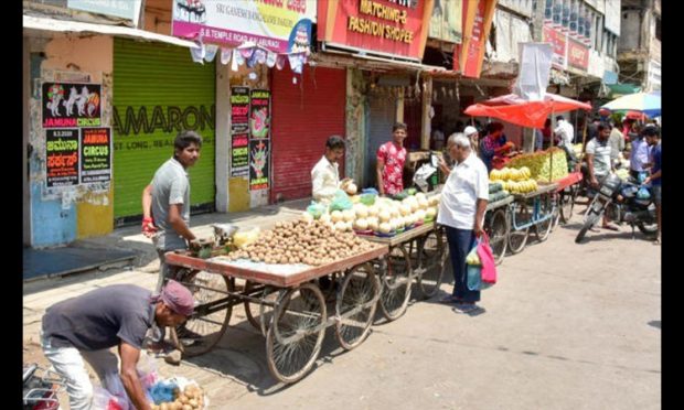
[[[150,409],[136,366],[148,330],[178,326],[192,315],[194,300],[182,284],[170,280],[152,295],[135,284],[114,284],[47,308],[41,344],[55,371],[66,380],[72,410],[89,409],[93,384],[87,362],[107,388],[107,375],[119,374],[111,347],[120,356],[120,378],[136,409]]]

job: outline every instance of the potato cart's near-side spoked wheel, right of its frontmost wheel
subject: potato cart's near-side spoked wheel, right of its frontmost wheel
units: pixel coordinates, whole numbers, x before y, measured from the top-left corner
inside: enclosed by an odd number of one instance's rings
[[[371,263],[359,265],[345,274],[335,303],[335,334],[343,348],[351,350],[365,339],[378,298],[380,280]]]

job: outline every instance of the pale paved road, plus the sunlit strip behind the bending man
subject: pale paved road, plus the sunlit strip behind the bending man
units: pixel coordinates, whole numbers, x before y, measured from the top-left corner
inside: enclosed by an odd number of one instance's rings
[[[627,228],[576,245],[576,219],[504,259],[484,314],[416,302],[352,352],[329,332],[317,368],[293,386],[274,382],[265,339],[241,310],[214,352],[180,367],[158,359],[160,373],[196,379],[216,409],[660,409],[661,248]],[[136,271],[84,278],[25,295],[25,322],[60,292],[156,281]],[[35,323],[24,331],[31,338]]]

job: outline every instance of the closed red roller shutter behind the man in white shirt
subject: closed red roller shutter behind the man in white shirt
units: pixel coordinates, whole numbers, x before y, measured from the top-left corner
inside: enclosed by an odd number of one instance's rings
[[[344,69],[306,67],[302,77],[272,69],[271,203],[311,196],[311,169],[325,152],[332,134],[344,138]],[[340,177],[344,175],[344,161]],[[280,196],[279,196],[280,195]]]

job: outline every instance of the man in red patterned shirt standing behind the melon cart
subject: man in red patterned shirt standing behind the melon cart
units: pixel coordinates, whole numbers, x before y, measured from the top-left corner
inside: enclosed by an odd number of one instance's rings
[[[381,195],[396,195],[404,191],[404,163],[406,162],[406,125],[397,122],[392,127],[392,141],[377,149],[377,185]]]

